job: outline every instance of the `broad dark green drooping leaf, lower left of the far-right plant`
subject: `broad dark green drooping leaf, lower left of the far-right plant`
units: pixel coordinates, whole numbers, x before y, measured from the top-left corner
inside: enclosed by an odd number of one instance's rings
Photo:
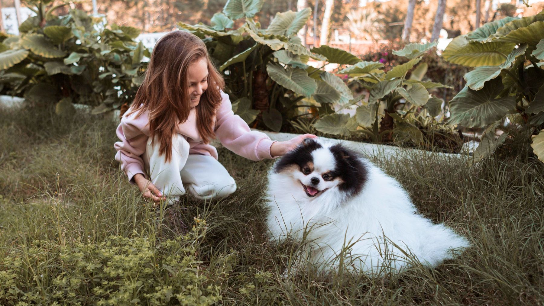
[[[450,101],[450,124],[462,126],[484,127],[504,117],[516,106],[516,97],[498,97],[504,88],[500,77],[487,81],[484,88],[478,91],[465,86]]]

